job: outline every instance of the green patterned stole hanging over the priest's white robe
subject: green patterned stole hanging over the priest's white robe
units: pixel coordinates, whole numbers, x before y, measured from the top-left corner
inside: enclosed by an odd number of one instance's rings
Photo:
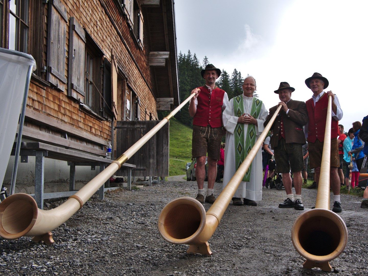
[[[258,98],[253,97],[252,100],[252,109],[251,116],[254,118],[258,118],[259,113],[261,112],[262,101]],[[243,105],[243,96],[236,96],[234,98],[234,114],[237,117],[240,117],[244,114],[244,105]],[[235,135],[235,165],[236,170],[239,169],[241,163],[247,157],[248,153],[252,149],[255,143],[255,125],[248,124],[247,136],[244,139],[244,124],[237,124],[234,131]],[[245,141],[245,146],[244,146]],[[243,181],[250,181],[251,177],[252,164],[249,167],[247,173],[245,173],[243,177]]]

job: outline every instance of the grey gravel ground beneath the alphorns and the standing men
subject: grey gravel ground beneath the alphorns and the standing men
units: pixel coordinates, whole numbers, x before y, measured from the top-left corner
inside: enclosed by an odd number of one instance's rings
[[[215,192],[219,194],[216,183]],[[163,240],[158,216],[172,199],[195,197],[195,182],[169,181],[118,190],[100,201],[93,197],[53,231],[53,245],[30,237],[0,238],[2,275],[368,275],[365,229],[367,209],[360,198],[342,195],[349,238],[344,252],[330,264],[333,272],[302,268],[304,259],[291,243],[291,227],[302,211],[279,209],[285,191],[263,190],[258,206],[229,205],[210,238],[212,256],[188,255],[188,245]],[[305,210],[316,190],[303,189]],[[47,201],[49,208],[63,200]],[[204,204],[207,210],[210,204]]]

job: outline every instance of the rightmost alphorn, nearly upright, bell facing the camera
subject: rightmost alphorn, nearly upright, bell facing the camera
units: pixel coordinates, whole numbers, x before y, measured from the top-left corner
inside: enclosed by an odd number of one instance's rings
[[[329,261],[339,256],[347,243],[347,228],[340,216],[330,211],[331,96],[328,99],[321,173],[315,209],[302,213],[291,229],[291,241],[307,259],[304,268],[319,267],[331,271]]]

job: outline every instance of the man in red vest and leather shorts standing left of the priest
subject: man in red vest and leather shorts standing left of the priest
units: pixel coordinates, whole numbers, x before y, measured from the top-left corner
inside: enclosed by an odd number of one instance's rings
[[[201,71],[206,85],[192,90],[195,96],[189,104],[189,115],[193,117],[192,159],[197,158],[195,176],[197,178],[198,194],[195,199],[199,202],[213,203],[213,186],[217,174],[217,161],[220,159],[222,135],[222,110],[229,103],[227,93],[215,86],[221,70],[208,64]],[[205,163],[208,154],[208,188],[205,192]]]

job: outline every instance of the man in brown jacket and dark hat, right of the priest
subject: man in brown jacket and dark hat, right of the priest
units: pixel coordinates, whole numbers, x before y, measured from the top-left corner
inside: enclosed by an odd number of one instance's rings
[[[304,210],[301,200],[301,171],[304,167],[302,146],[305,144],[303,126],[308,122],[308,115],[305,102],[291,99],[291,93],[294,91],[295,88],[286,81],[280,82],[279,89],[274,92],[279,95],[281,102],[270,108],[263,125],[266,127],[277,107],[282,105],[280,113],[272,124],[274,134],[270,141],[275,154],[277,172],[282,173],[286,192],[286,199],[279,204],[279,208]],[[290,169],[294,177],[295,195],[291,190]]]

